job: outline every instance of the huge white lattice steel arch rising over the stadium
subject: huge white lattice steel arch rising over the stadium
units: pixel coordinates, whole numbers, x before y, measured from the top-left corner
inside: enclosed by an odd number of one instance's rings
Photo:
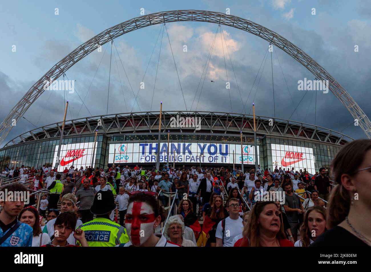
[[[154,24],[162,24],[175,21],[201,21],[208,23],[222,24],[244,30],[256,36],[263,38],[269,43],[285,51],[300,64],[305,66],[317,80],[328,80],[329,90],[341,101],[348,109],[352,117],[358,120],[359,126],[365,132],[367,137],[371,138],[371,122],[366,114],[361,110],[349,93],[332,77],[321,65],[313,58],[306,54],[303,50],[295,46],[295,44],[286,40],[279,34],[256,24],[252,21],[232,16],[224,13],[205,11],[205,10],[174,10],[162,11],[136,17],[134,19],[117,24],[108,28],[90,40],[77,47],[70,54],[55,64],[49,71],[43,75],[22,97],[22,99],[13,107],[8,116],[1,123],[0,141],[4,141],[7,134],[12,129],[12,120],[18,121],[27,109],[35,102],[35,100],[44,92],[43,87],[45,82],[50,82],[50,79],[57,80],[63,73],[72,67],[79,60],[90,54],[99,46],[108,43],[125,33],[137,30],[139,28],[151,26]]]

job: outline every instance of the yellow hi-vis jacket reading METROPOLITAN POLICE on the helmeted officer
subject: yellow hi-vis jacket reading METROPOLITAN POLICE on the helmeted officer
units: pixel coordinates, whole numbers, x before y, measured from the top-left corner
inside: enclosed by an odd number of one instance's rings
[[[89,246],[115,246],[129,241],[126,229],[107,218],[97,217],[80,228]]]

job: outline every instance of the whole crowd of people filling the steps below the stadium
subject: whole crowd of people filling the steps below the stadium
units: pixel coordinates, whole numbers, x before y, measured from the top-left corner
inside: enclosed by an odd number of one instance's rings
[[[370,246],[370,165],[356,140],[332,183],[325,168],[6,168],[0,192],[49,192],[0,199],[0,246]]]

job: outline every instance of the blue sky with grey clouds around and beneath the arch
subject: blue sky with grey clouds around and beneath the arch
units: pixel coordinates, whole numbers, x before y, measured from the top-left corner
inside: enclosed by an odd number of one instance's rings
[[[6,117],[54,64],[101,31],[141,16],[141,9],[145,14],[185,9],[226,13],[229,9],[231,15],[265,26],[309,54],[338,80],[368,117],[371,116],[370,1],[128,2],[2,3],[0,119]],[[59,15],[55,14],[56,8]],[[313,8],[315,15],[312,15]],[[12,51],[14,45],[15,52]],[[354,50],[355,45],[358,45],[358,52]],[[184,46],[187,46],[186,52]],[[68,120],[107,111],[114,114],[158,110],[160,101],[163,101],[164,110],[187,108],[249,114],[255,102],[257,115],[290,118],[342,131],[352,138],[365,137],[331,92],[308,91],[303,98],[305,91],[298,90],[298,80],[313,80],[314,76],[278,48],[274,47],[272,54],[265,55],[268,46],[267,41],[253,34],[232,27],[219,28],[212,23],[173,22],[167,23],[166,28],[156,25],[132,31],[114,40],[112,53],[111,43],[107,43],[102,46],[102,52],[96,50],[70,68],[66,76],[76,80],[75,92],[65,95],[62,90],[45,91],[24,115],[28,121],[22,118],[17,122],[4,143],[35,128],[34,125],[40,127],[61,121],[67,97],[70,102]],[[142,81],[144,89],[139,88]],[[230,82],[229,91],[226,81]],[[137,93],[138,104],[135,103]]]

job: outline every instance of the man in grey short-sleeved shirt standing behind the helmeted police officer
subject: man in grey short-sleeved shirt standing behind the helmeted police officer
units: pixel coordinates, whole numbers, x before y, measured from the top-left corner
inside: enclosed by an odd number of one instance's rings
[[[79,189],[79,191],[77,191],[76,193],[77,201],[80,201],[79,212],[82,217],[81,218],[82,223],[93,220],[93,214],[90,212],[90,207],[93,205],[96,191],[89,185],[90,179],[85,178],[82,183],[83,188]]]

